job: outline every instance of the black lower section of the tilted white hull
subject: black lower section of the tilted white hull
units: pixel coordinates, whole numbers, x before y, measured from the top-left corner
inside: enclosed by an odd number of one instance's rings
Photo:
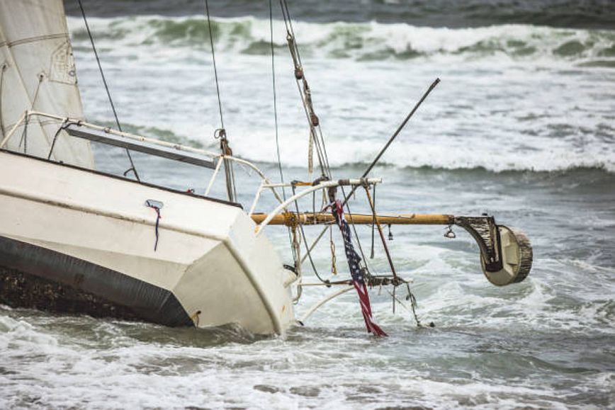
[[[1,302],[43,309],[45,302],[53,305],[59,302],[57,304],[67,309],[57,311],[78,313],[70,306],[86,300],[88,308],[81,313],[92,316],[141,319],[165,326],[194,326],[171,291],[42,246],[0,237],[0,266],[18,271],[0,272],[3,282],[13,280],[12,284],[4,283],[0,290]],[[38,286],[31,283],[33,278],[28,280],[27,275],[28,283],[18,286],[18,280],[23,277],[20,273],[41,278],[40,284],[50,290],[40,295]],[[9,289],[10,285],[13,289]],[[28,286],[32,288],[28,289]],[[5,293],[9,290],[12,291],[10,295]],[[19,290],[23,293],[19,294]]]

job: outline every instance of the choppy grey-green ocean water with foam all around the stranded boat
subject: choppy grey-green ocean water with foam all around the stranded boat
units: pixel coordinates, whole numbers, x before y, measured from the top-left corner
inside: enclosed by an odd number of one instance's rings
[[[113,116],[83,22],[67,2],[86,116]],[[215,149],[220,126],[203,4],[89,4],[89,24],[125,130]],[[305,114],[274,1],[280,149],[307,178]],[[297,4],[295,4],[297,3]],[[510,3],[510,4],[509,4]],[[461,229],[393,227],[413,280],[417,328],[371,291],[368,336],[354,293],[286,338],[235,326],[152,324],[0,307],[2,408],[582,408],[615,406],[615,11],[610,1],[292,1],[305,75],[334,178],[358,177],[436,77],[372,176],[380,212],[495,215],[534,246],[523,283],[494,287]],[[225,125],[235,154],[278,178],[269,9],[210,2]],[[121,150],[96,149],[122,172]],[[209,171],[135,155],[142,178],[202,192]],[[239,200],[254,174],[237,168]],[[222,186],[215,188],[222,195]],[[351,201],[366,211],[363,195]],[[259,210],[273,210],[264,196]],[[310,209],[311,198],[302,203]],[[288,237],[268,236],[290,263]],[[358,227],[369,254],[371,230]],[[315,237],[316,228],[306,228]],[[335,238],[335,237],[334,237]],[[346,277],[339,251],[339,276]],[[332,278],[328,241],[317,248]],[[381,246],[368,259],[388,273]],[[315,282],[310,268],[305,280]],[[332,290],[309,287],[298,317]],[[405,296],[401,292],[401,296]]]

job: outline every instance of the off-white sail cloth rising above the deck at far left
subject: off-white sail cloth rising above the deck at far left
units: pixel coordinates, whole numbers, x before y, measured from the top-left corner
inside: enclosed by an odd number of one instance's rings
[[[62,0],[0,0],[0,83],[0,140],[26,110],[84,119]],[[4,148],[47,158],[60,125],[32,117]],[[94,168],[89,142],[64,131],[52,159]]]

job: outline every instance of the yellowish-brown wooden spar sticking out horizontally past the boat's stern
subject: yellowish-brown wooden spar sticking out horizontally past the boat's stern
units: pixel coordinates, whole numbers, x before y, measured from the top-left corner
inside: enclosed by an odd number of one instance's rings
[[[260,224],[265,220],[267,214],[252,214],[252,220]],[[373,224],[373,215],[366,214],[344,214],[346,222],[349,224]],[[455,223],[453,215],[437,214],[400,214],[400,215],[378,215],[377,220],[380,224],[399,224],[399,225],[450,225]],[[295,223],[304,225],[317,225],[334,223],[334,217],[327,212],[304,212],[297,215],[296,212],[283,212],[275,215],[270,225],[288,225]]]

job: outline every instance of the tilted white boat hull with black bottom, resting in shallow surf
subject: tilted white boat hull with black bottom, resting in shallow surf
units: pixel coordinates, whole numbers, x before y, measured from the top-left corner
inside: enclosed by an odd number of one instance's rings
[[[0,152],[0,266],[120,317],[283,334],[294,274],[254,229],[230,203]]]

